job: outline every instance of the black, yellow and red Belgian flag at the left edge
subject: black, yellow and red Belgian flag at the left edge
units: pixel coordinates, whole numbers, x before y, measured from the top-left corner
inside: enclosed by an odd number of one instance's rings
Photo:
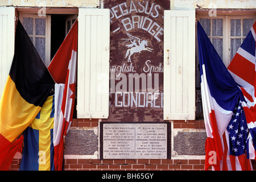
[[[13,63],[0,102],[0,170],[9,169],[23,141],[23,137],[17,138],[38,115],[47,97],[53,94],[54,84],[18,21]]]

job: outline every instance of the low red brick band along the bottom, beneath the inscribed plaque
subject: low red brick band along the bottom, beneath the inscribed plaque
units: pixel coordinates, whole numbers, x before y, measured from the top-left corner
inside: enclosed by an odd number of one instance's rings
[[[14,159],[10,170],[18,171],[21,159]],[[129,159],[129,160],[98,160],[98,159],[64,159],[65,171],[201,171],[204,160],[194,159]]]

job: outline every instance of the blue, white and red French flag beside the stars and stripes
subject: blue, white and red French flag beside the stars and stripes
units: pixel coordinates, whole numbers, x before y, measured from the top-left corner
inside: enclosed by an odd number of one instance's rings
[[[201,24],[197,22],[197,39],[200,61],[201,93],[204,109],[205,129],[205,169],[214,166],[220,169],[223,156],[221,136],[233,115],[239,98],[239,88],[226,70],[220,56],[214,49]],[[225,79],[224,79],[225,78]],[[211,152],[215,152],[217,162],[211,164]]]

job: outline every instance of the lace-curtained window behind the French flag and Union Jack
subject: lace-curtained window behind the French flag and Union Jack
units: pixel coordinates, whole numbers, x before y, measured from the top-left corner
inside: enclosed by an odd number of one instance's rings
[[[241,12],[240,12],[241,13]],[[218,14],[218,13],[217,13]],[[197,19],[210,42],[228,67],[256,20],[255,15],[199,15]],[[197,44],[197,40],[196,40]],[[203,117],[200,90],[199,56],[196,55],[196,115]]]

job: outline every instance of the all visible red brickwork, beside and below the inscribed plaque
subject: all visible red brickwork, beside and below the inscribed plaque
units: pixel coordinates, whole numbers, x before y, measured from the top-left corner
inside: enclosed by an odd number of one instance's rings
[[[97,127],[97,119],[73,119],[73,127]],[[203,129],[204,121],[174,121],[174,128]],[[10,170],[18,171],[21,159],[14,159]],[[64,159],[65,171],[102,171],[102,170],[160,170],[160,171],[204,171],[203,159],[126,159],[126,160],[98,160],[98,159]],[[256,170],[255,160],[252,161]],[[210,170],[210,168],[209,168]]]

